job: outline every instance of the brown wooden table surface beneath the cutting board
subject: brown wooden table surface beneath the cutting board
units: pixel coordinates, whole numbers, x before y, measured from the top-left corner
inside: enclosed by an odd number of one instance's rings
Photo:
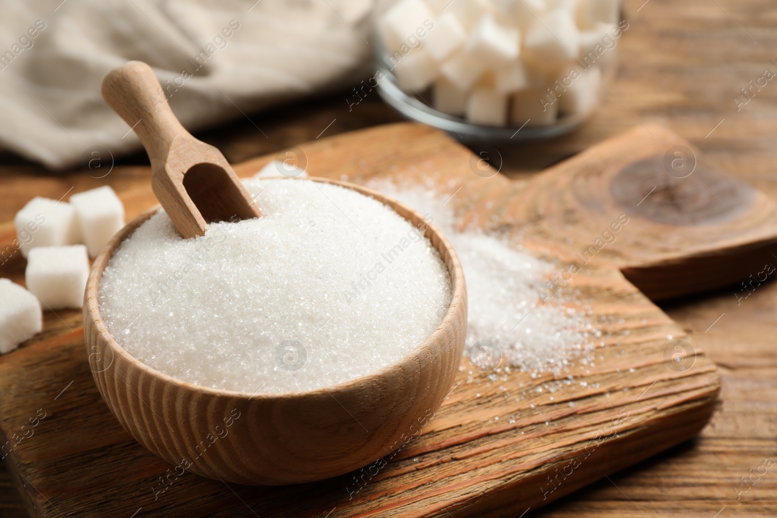
[[[771,61],[777,59],[774,3],[629,0],[625,16],[629,30],[618,40],[618,72],[601,112],[555,141],[500,148],[503,172],[524,178],[636,124],[657,122],[692,141],[710,163],[777,197],[767,172],[777,163],[777,83],[768,82],[739,111],[733,101],[765,68],[777,72]],[[242,162],[312,140],[325,128],[329,136],[399,120],[375,94],[350,112],[346,99],[341,92],[197,136],[224,150],[230,162]],[[0,161],[0,221],[35,194],[57,199],[71,186],[105,181],[88,171],[54,176],[9,154]],[[112,182],[130,189],[145,182],[133,167],[144,161],[141,154],[118,161]],[[662,305],[695,334],[723,374],[720,409],[699,438],[534,516],[777,516],[777,353],[769,345],[777,328],[777,285],[765,283],[739,304],[734,290]],[[0,509],[0,516],[25,516],[2,464]]]

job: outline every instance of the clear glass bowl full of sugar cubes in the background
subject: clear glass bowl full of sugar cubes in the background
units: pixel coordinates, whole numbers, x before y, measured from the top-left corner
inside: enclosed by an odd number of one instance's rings
[[[620,0],[378,0],[368,87],[465,141],[554,137],[596,110],[629,29],[620,12]]]

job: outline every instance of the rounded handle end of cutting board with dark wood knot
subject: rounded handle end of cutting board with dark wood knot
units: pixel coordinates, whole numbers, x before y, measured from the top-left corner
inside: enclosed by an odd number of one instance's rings
[[[580,267],[595,260],[620,268],[654,301],[736,283],[777,251],[777,203],[656,124],[637,125],[516,189],[510,215],[529,222],[524,242]],[[613,231],[622,214],[629,223]]]

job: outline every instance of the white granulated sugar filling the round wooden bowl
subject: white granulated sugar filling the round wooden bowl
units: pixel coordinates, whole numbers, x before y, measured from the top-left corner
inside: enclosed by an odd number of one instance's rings
[[[385,367],[437,328],[448,269],[399,214],[330,184],[246,187],[262,217],[184,240],[160,210],[113,254],[99,310],[135,358],[206,387],[301,391]]]

